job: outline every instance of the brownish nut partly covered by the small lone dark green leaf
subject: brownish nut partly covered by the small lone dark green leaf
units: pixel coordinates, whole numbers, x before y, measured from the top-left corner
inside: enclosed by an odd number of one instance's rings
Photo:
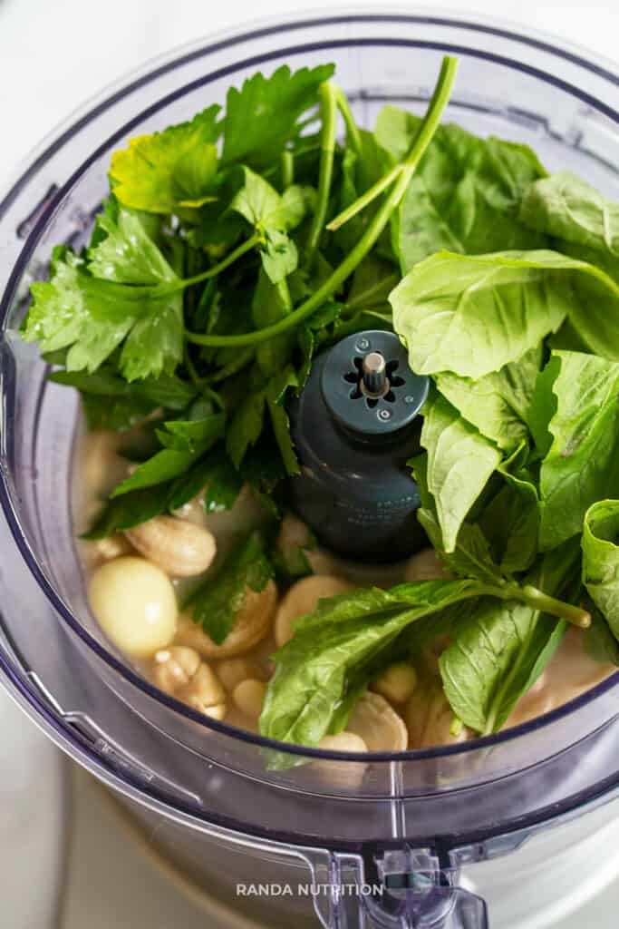
[[[205,658],[235,658],[257,645],[267,635],[277,607],[277,587],[269,581],[264,590],[257,593],[248,587],[243,606],[234,618],[229,634],[217,645],[210,635],[189,616],[181,616],[178,623],[176,642],[195,648]]]

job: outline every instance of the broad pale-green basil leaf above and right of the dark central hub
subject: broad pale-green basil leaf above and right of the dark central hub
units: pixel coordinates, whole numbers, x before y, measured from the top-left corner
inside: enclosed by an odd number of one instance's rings
[[[575,271],[598,273],[554,252],[432,255],[390,297],[411,368],[479,378],[522,358],[573,312]]]

